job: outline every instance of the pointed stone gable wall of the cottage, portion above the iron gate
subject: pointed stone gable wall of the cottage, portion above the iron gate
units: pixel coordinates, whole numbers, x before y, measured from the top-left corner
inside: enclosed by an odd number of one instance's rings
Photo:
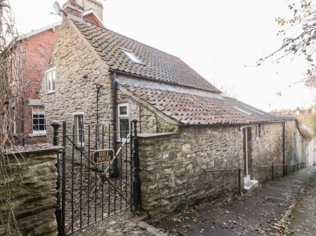
[[[112,124],[112,79],[108,67],[100,61],[91,46],[77,33],[70,20],[62,23],[47,69],[56,68],[55,92],[47,94],[46,77],[40,97],[45,106],[47,123],[65,120],[67,133],[72,133],[74,113],[84,113],[84,123],[96,125],[96,85],[103,85],[99,97],[99,123]],[[52,128],[47,125],[48,142]],[[93,130],[93,127],[91,127]],[[87,132],[87,127],[86,127]]]

